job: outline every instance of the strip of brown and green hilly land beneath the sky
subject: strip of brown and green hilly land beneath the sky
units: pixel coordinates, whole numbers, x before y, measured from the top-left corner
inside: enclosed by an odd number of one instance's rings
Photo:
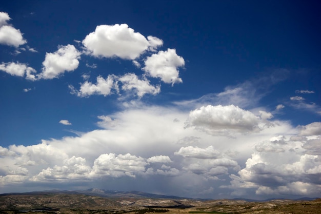
[[[321,213],[320,198],[190,199],[139,191],[88,189],[0,194],[0,213]]]

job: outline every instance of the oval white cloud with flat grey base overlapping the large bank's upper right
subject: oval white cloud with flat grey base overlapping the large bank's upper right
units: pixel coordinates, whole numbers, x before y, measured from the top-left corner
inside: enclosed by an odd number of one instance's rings
[[[260,116],[256,116],[234,105],[208,105],[189,113],[186,128],[194,127],[213,135],[257,132],[269,125],[266,119],[271,117],[272,115],[265,111],[260,111]]]

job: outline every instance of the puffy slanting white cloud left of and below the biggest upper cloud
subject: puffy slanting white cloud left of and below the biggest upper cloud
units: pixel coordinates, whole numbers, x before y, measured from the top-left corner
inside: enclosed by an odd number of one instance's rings
[[[81,52],[73,45],[58,46],[54,53],[46,53],[40,76],[43,79],[53,79],[65,71],[73,71],[79,65]]]

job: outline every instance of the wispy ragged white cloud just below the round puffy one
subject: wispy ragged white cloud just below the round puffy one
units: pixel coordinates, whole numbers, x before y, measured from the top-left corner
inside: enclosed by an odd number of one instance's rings
[[[127,73],[119,77],[118,81],[122,82],[124,91],[135,89],[139,98],[142,98],[146,93],[155,95],[160,92],[159,85],[152,86],[147,79],[139,80],[134,73]]]

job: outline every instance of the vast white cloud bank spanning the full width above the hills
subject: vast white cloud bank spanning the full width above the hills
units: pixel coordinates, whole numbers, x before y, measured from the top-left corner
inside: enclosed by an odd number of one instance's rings
[[[229,111],[221,112],[222,116],[230,115]],[[275,127],[225,138],[184,129],[188,116],[189,111],[180,106],[141,103],[138,108],[98,116],[102,122],[99,129],[74,137],[32,146],[0,147],[0,188],[5,191],[6,184],[38,181],[39,188],[77,182],[84,188],[144,185],[152,186],[150,191],[170,188],[190,197],[202,197],[197,192],[210,186],[215,194],[227,191],[219,185],[233,188],[233,195],[251,197],[259,188],[275,192],[293,182],[317,189],[321,170],[318,137],[288,140],[296,136],[298,129],[288,122],[270,119]],[[263,117],[269,118],[269,114]],[[259,116],[257,120],[262,121]],[[21,175],[27,171],[27,175]],[[237,172],[239,176],[235,176]]]

